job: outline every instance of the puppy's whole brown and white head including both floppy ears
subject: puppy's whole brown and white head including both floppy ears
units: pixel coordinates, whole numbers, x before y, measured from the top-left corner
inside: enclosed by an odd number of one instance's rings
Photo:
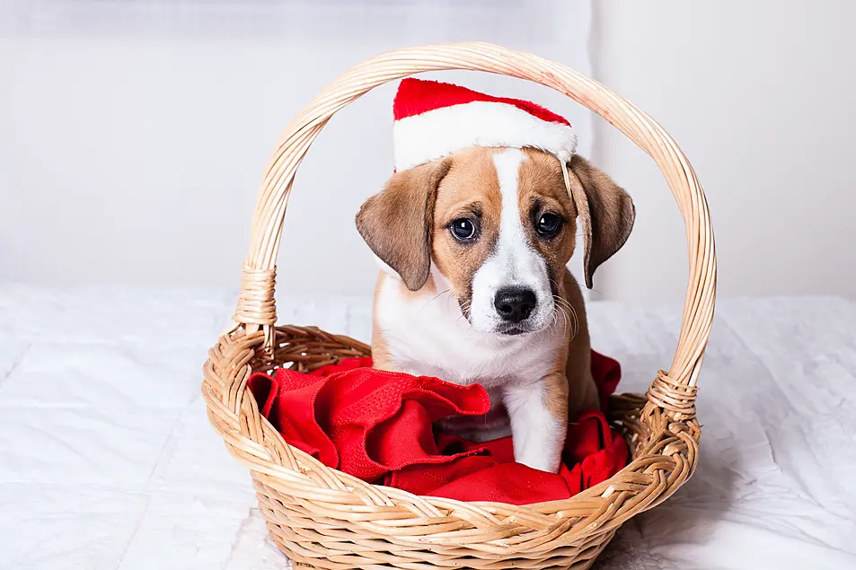
[[[581,158],[534,149],[474,147],[396,173],[357,215],[375,255],[416,291],[432,263],[474,329],[530,333],[553,320],[577,218],[586,273],[618,250],[633,223],[630,197]]]

